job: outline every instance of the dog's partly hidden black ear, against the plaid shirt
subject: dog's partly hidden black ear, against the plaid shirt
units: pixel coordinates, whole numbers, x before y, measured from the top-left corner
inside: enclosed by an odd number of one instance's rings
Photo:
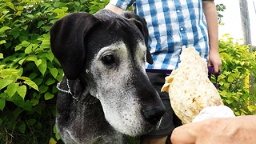
[[[149,44],[148,44],[149,31],[147,30],[145,19],[138,16],[134,12],[130,12],[130,11],[124,11],[122,13],[122,16],[127,18],[129,21],[134,22],[134,24],[138,27],[138,29],[143,34],[145,45],[146,45],[146,62],[153,64],[153,59],[150,54],[150,50],[149,50],[150,48],[149,48]]]

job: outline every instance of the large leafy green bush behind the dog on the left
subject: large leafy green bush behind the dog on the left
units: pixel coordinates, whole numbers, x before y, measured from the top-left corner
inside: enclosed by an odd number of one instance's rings
[[[106,1],[107,2],[107,1]],[[0,143],[54,143],[61,66],[50,50],[50,26],[102,1],[3,0],[0,3]]]

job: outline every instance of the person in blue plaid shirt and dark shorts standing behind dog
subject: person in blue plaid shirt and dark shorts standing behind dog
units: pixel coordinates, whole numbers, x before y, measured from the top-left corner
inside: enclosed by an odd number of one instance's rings
[[[154,64],[146,65],[150,82],[166,106],[158,130],[141,137],[141,143],[164,144],[182,122],[174,114],[167,93],[161,93],[167,74],[178,68],[182,46],[194,46],[206,58],[214,72],[221,69],[218,53],[218,16],[214,0],[110,0],[105,9],[121,14],[133,6],[145,18],[149,30],[148,44]]]

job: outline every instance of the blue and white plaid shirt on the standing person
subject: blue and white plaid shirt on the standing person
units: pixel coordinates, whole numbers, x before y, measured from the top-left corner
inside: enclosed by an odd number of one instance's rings
[[[208,59],[209,44],[202,0],[110,0],[110,4],[146,19],[149,46],[154,64],[146,69],[174,70],[180,62],[182,46],[194,46]]]

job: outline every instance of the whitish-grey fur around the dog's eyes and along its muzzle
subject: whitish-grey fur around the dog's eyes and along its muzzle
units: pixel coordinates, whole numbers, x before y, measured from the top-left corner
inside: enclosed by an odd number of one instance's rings
[[[113,54],[117,65],[111,68],[105,66],[102,63],[105,54]],[[130,51],[123,42],[103,47],[94,58],[90,72],[94,75],[95,82],[98,82],[98,89],[95,91],[102,103],[106,120],[123,134],[138,135],[145,133],[149,124],[141,114],[142,106],[131,82],[134,64],[130,57]],[[146,75],[146,46],[142,42],[138,42],[134,58],[135,65]]]

